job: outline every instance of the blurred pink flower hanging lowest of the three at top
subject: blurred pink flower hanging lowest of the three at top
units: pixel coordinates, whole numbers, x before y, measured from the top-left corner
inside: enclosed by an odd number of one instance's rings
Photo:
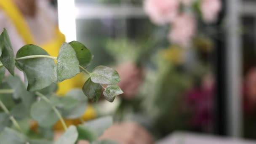
[[[181,14],[177,16],[171,25],[171,31],[168,39],[172,43],[180,44],[183,47],[188,47],[190,40],[196,32],[196,20],[192,15]]]

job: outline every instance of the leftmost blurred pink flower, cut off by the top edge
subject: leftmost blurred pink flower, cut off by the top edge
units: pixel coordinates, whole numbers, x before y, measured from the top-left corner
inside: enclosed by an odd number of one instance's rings
[[[155,24],[166,24],[175,19],[179,0],[145,0],[144,10]]]

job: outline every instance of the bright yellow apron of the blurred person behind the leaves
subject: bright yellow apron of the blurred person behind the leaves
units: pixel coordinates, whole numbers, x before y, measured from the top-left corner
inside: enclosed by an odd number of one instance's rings
[[[30,31],[24,17],[16,5],[12,3],[12,0],[0,0],[0,9],[4,11],[6,16],[8,16],[8,18],[12,21],[16,31],[26,44],[36,44],[35,40],[33,39],[32,32]],[[51,56],[58,56],[59,48],[64,41],[64,35],[56,27],[56,35],[53,40],[40,45],[40,47],[45,49],[45,51],[47,51]],[[81,73],[69,80],[64,80],[63,82],[58,83],[59,88],[57,94],[64,95],[72,88],[82,88],[84,81],[85,78]],[[88,106],[85,114],[82,117],[84,120],[89,120],[95,117],[95,111],[91,105]],[[67,125],[78,124],[79,121],[66,120],[66,123]],[[57,130],[62,129],[60,122],[56,123],[54,127]]]

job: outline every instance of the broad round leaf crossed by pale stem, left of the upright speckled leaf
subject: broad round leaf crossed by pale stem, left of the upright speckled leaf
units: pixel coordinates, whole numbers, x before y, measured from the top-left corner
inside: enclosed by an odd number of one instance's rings
[[[16,58],[32,55],[48,55],[36,45],[25,45],[17,52]],[[50,58],[33,58],[16,61],[16,67],[23,71],[27,77],[28,91],[38,91],[52,84],[52,75],[55,63]]]

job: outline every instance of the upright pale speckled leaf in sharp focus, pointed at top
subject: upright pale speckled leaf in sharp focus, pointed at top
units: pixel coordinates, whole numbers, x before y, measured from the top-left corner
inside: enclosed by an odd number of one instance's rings
[[[61,45],[54,71],[54,82],[69,79],[80,72],[79,61],[77,60],[75,50],[68,43]]]

